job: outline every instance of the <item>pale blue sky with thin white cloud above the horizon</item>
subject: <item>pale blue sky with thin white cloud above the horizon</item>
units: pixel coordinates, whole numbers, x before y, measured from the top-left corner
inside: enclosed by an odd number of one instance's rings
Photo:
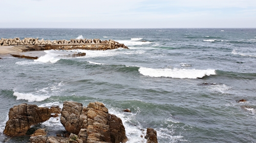
[[[256,28],[256,0],[0,0],[0,28]]]

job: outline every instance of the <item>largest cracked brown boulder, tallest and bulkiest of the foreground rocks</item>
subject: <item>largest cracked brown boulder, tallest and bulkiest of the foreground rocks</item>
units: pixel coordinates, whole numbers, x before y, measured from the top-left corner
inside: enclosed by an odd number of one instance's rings
[[[78,134],[83,142],[126,142],[125,129],[120,118],[109,113],[103,103],[65,101],[61,111],[61,124],[71,133]]]

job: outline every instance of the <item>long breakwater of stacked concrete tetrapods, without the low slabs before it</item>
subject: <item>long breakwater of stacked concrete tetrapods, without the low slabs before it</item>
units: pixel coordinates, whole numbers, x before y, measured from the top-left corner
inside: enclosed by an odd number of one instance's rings
[[[0,46],[17,46],[23,47],[22,51],[30,50],[50,50],[50,49],[87,49],[87,50],[108,50],[116,48],[126,48],[114,40],[100,39],[70,39],[70,40],[39,40],[38,38],[1,38]],[[26,48],[24,48],[26,47]]]

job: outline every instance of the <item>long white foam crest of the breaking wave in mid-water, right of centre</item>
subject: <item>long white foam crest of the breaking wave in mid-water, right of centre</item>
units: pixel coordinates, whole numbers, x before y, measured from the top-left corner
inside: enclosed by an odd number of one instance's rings
[[[172,77],[172,78],[202,78],[205,75],[215,75],[215,70],[196,70],[196,69],[152,69],[140,67],[139,72],[150,77]]]

